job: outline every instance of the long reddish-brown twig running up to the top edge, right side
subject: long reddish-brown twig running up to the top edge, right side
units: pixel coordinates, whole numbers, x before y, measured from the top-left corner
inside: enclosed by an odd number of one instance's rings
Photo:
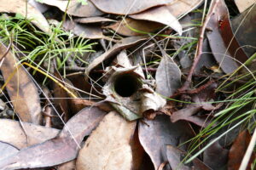
[[[196,65],[198,65],[199,60],[201,59],[202,45],[203,45],[205,31],[207,29],[207,25],[208,25],[209,20],[211,19],[212,14],[214,14],[214,12],[215,12],[215,8],[217,7],[218,1],[219,0],[212,1],[212,5],[211,5],[212,8],[209,10],[209,12],[207,14],[207,18],[206,18],[203,26],[201,27],[201,34],[199,37],[199,42],[197,44],[197,51],[195,53],[193,65],[191,66],[190,71],[189,71],[189,76],[187,77],[186,82],[183,83],[183,87],[179,88],[178,91],[186,91],[189,88],[189,85],[192,80],[193,72],[195,71],[195,67],[196,67]]]

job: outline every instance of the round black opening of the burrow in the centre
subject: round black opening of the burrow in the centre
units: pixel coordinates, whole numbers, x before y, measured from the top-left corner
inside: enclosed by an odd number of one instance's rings
[[[124,74],[116,78],[114,82],[114,90],[122,97],[130,97],[139,88],[140,83],[137,77]]]

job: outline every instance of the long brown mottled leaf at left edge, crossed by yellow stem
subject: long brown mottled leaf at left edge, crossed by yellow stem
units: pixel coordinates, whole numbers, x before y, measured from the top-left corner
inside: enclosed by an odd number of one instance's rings
[[[7,48],[0,44],[0,54],[3,55]],[[14,54],[6,54],[1,71],[9,98],[14,105],[15,112],[19,115],[22,122],[42,123],[41,105],[38,94],[38,88],[32,82],[29,73],[21,65],[16,67],[17,61]],[[19,69],[17,69],[19,68]],[[13,74],[15,75],[13,76]]]

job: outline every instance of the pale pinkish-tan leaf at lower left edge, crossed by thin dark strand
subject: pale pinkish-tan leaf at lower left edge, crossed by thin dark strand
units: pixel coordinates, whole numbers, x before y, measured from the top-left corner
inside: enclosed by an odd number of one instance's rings
[[[58,129],[42,127],[27,122],[22,122],[22,127],[20,122],[0,119],[0,141],[22,149],[53,139],[60,133]]]

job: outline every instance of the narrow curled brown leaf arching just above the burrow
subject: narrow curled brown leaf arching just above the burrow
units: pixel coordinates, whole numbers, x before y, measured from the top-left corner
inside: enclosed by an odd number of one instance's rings
[[[96,59],[94,59],[90,65],[85,70],[85,78],[88,79],[90,76],[90,71],[94,69],[97,65],[101,64],[105,59],[112,57],[115,54],[118,54],[124,48],[130,48],[136,45],[138,42],[143,42],[148,37],[126,37],[121,40],[121,42],[117,42],[113,45],[112,48],[109,48],[107,52],[100,55]]]

